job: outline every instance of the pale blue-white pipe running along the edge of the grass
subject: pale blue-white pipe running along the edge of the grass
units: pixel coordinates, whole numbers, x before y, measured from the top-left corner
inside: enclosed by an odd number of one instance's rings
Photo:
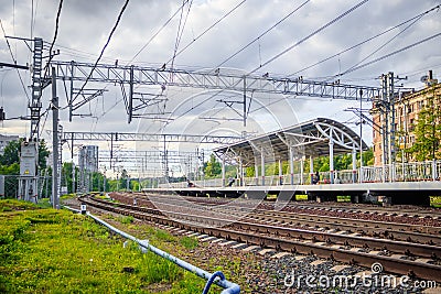
[[[63,206],[63,208],[66,208],[68,210],[75,211],[75,213],[84,213],[84,210],[78,210],[68,206]],[[151,252],[153,252],[157,255],[160,255],[171,262],[173,262],[174,264],[183,268],[186,271],[190,271],[194,274],[196,274],[197,276],[205,279],[207,281],[207,283],[205,284],[204,291],[203,293],[208,293],[209,286],[212,285],[212,283],[217,284],[218,286],[222,286],[224,288],[224,291],[222,291],[222,294],[238,294],[240,293],[240,286],[238,284],[232,283],[229,281],[227,281],[224,276],[224,274],[222,272],[215,272],[215,273],[209,273],[207,271],[204,271],[184,260],[181,260],[165,251],[162,251],[159,248],[155,248],[154,246],[150,244],[148,240],[140,240],[125,231],[121,231],[115,227],[112,227],[110,224],[101,220],[100,218],[92,215],[89,211],[85,211],[86,216],[93,218],[95,221],[99,222],[100,225],[105,226],[106,228],[108,228],[109,230],[122,236],[126,239],[129,239],[136,243],[138,243],[141,248],[146,249],[146,250],[150,250]]]

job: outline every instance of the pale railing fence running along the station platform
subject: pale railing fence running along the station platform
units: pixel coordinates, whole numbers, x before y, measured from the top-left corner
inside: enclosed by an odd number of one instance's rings
[[[320,184],[330,184],[331,172],[320,172]],[[441,161],[392,163],[381,166],[362,166],[357,170],[334,171],[334,184],[351,183],[385,183],[385,182],[422,182],[440,181]],[[355,174],[355,175],[354,175]],[[259,177],[234,178],[232,186],[280,186],[280,185],[302,185],[311,184],[311,175],[303,174],[283,174],[268,175]],[[204,181],[192,181],[196,187],[222,187],[228,186],[229,179],[223,183],[222,178],[211,178]],[[160,184],[160,188],[185,188],[187,182]]]

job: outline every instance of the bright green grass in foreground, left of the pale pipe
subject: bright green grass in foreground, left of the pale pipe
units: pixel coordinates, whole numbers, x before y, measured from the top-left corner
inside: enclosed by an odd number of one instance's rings
[[[151,252],[122,248],[122,239],[85,216],[17,200],[0,200],[0,209],[7,211],[0,213],[0,293],[200,293],[204,286]],[[143,233],[152,243],[176,243],[161,230]]]

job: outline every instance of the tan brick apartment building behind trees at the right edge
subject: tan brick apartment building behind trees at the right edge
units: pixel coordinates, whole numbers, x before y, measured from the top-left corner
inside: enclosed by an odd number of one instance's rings
[[[394,96],[395,104],[395,159],[396,162],[415,161],[410,154],[406,154],[408,150],[416,142],[415,129],[418,123],[418,115],[421,109],[429,107],[429,101],[433,101],[431,107],[441,106],[441,84],[433,79],[432,72],[423,78],[426,87],[421,90],[413,92],[401,92],[399,96]],[[385,124],[385,118],[374,104],[373,109],[374,127],[373,143],[374,143],[374,159],[375,165],[383,164],[383,137],[380,133]],[[391,118],[391,116],[389,116]],[[438,122],[440,123],[440,122]],[[390,138],[389,138],[390,139]]]

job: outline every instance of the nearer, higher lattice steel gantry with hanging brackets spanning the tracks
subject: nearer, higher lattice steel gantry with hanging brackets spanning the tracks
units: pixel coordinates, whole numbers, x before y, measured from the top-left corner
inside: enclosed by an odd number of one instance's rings
[[[244,107],[244,124],[246,124],[247,109],[254,92],[363,101],[372,101],[376,97],[380,97],[381,94],[381,88],[379,87],[347,85],[341,84],[340,80],[319,81],[303,79],[303,77],[272,77],[268,73],[250,75],[234,73],[226,68],[185,70],[166,68],[165,65],[158,68],[152,66],[123,66],[118,65],[118,63],[95,65],[74,61],[51,61],[51,66],[55,68],[56,79],[69,84],[71,90],[67,97],[69,120],[75,115],[75,110],[105,91],[105,89],[85,88],[84,85],[88,81],[119,85],[129,122],[131,122],[132,118],[142,117],[141,110],[166,100],[162,94],[140,92],[137,87],[142,85],[158,85],[162,90],[166,87],[191,87],[207,90],[230,90],[243,94],[240,104]],[[84,83],[82,87],[75,86],[75,83],[78,81]]]

